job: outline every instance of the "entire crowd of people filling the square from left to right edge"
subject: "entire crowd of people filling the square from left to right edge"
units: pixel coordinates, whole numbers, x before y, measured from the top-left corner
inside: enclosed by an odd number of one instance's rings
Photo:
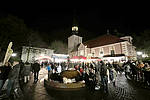
[[[33,64],[22,61],[7,62],[0,67],[0,97],[5,87],[7,97],[10,97],[15,88],[20,88],[21,82],[24,84],[30,80],[31,72],[34,74],[34,83],[38,82],[40,68],[48,71],[48,80],[58,80],[59,75],[65,70],[77,70],[80,77],[76,81],[84,80],[86,87],[91,91],[99,86],[105,93],[108,93],[108,83],[116,87],[118,74],[125,73],[127,79],[142,81],[145,85],[150,85],[150,65],[142,61],[127,61],[123,64],[118,62],[76,62],[76,63],[45,63],[40,65],[37,61]],[[52,77],[55,76],[55,77]],[[7,85],[5,85],[7,83]]]

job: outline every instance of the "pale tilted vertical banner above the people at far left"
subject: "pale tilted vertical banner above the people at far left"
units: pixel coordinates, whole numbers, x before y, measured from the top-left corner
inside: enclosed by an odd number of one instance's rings
[[[3,61],[3,65],[5,65],[6,62],[9,61],[12,53],[13,53],[13,50],[11,49],[12,47],[12,42],[9,43],[8,45],[8,48],[7,48],[7,51],[6,51],[6,54],[5,54],[5,58],[4,58],[4,61]]]

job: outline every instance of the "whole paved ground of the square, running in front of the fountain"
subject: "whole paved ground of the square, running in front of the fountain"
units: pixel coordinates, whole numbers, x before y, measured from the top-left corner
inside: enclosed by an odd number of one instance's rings
[[[42,68],[38,83],[33,84],[33,78],[31,78],[30,82],[24,86],[24,100],[58,100],[57,97],[52,97],[47,93],[43,84],[45,75],[47,75],[47,71]],[[59,98],[59,100],[67,99],[73,100],[75,98],[71,98],[71,95]],[[124,75],[118,75],[117,86],[113,87],[110,83],[108,94],[98,91],[94,94],[87,94],[85,98],[79,97],[75,100],[150,100],[150,90],[141,88],[140,84],[127,80]]]

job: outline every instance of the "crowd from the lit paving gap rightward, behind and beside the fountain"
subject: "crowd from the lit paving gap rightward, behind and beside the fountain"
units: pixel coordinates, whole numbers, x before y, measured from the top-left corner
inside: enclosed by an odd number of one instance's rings
[[[80,73],[80,79],[84,80],[86,86],[94,91],[97,86],[101,86],[105,93],[108,92],[108,83],[116,87],[118,74],[125,73],[127,79],[142,81],[145,85],[150,84],[150,66],[142,61],[127,61],[124,63],[97,61],[90,63],[49,63],[47,64],[48,80],[51,75],[59,80],[59,74],[65,70],[77,70]],[[54,79],[55,80],[55,79]],[[62,82],[62,80],[59,80]]]

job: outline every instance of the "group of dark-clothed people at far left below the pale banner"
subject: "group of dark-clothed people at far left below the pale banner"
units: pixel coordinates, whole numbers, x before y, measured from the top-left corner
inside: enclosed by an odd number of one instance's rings
[[[0,94],[2,97],[10,97],[12,91],[19,90],[19,74],[20,74],[20,62],[15,60],[13,62],[6,62],[4,66],[0,67]],[[4,86],[5,85],[5,86]],[[2,94],[2,89],[6,88],[6,93]],[[17,94],[15,95],[17,96]]]

